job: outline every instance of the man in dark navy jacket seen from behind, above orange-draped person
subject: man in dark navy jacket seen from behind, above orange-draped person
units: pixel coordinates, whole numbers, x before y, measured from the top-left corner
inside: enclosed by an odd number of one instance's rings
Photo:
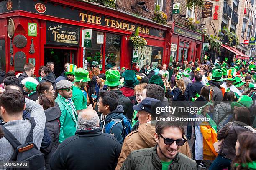
[[[184,97],[186,101],[191,101],[192,98],[195,97],[195,94],[193,93],[195,90],[197,90],[197,93],[200,94],[200,91],[204,85],[201,83],[202,81],[202,75],[200,73],[195,75],[195,82],[189,83],[186,87],[186,90],[184,92]],[[191,102],[189,102],[191,103]],[[189,114],[189,117],[193,117],[194,115]],[[191,139],[192,135],[192,122],[187,122],[187,140]]]

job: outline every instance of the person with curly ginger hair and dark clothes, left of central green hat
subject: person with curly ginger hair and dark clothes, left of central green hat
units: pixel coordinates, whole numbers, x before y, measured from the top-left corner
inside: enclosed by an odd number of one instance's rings
[[[90,100],[90,103],[92,103],[92,94],[95,92],[95,87],[96,87],[96,79],[97,76],[100,74],[100,69],[99,68],[93,68],[92,72],[89,74],[89,78],[91,79],[90,82],[88,82],[88,97]]]

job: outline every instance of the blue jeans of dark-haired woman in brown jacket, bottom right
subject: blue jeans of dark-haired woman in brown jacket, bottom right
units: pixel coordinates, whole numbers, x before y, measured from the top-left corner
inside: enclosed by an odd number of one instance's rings
[[[222,170],[228,167],[230,170],[230,164],[232,160],[223,157],[222,155],[218,155],[210,166],[209,170]]]

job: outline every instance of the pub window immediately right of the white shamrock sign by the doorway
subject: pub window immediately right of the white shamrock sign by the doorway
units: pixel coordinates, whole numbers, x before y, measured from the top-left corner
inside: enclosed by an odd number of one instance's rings
[[[84,54],[85,60],[87,60],[85,69],[88,71],[91,71],[93,67],[101,67],[100,65],[102,65],[103,44],[97,43],[97,34],[97,31],[92,30],[92,44],[91,47],[86,47]]]

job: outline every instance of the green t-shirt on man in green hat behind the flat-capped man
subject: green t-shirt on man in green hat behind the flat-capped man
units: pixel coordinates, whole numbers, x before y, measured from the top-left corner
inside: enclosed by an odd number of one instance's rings
[[[87,98],[82,92],[82,90],[73,85],[72,90],[72,101],[74,102],[74,105],[76,107],[76,110],[83,110],[87,108]]]

